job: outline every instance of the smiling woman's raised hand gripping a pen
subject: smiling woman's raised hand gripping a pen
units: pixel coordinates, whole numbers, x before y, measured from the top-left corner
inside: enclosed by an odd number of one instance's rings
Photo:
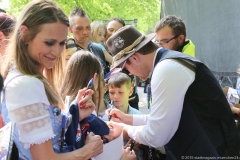
[[[81,89],[78,91],[76,101],[79,107],[79,120],[88,117],[94,110],[95,104],[92,101],[93,91],[91,89]]]

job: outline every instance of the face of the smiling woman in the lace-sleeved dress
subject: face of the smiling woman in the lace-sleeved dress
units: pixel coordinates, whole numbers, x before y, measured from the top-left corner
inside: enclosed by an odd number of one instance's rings
[[[27,42],[30,57],[38,63],[40,72],[53,67],[67,39],[68,26],[60,22],[46,23],[34,39]]]

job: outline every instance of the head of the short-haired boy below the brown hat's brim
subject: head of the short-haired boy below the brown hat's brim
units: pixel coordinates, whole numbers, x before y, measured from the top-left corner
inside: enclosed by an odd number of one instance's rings
[[[108,80],[110,99],[115,107],[128,107],[129,96],[132,95],[133,87],[131,78],[122,72],[113,74]]]

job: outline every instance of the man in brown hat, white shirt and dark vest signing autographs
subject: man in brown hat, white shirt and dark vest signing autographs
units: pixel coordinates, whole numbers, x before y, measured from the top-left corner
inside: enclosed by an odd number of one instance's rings
[[[116,135],[123,129],[139,143],[164,146],[167,159],[237,156],[236,124],[211,71],[191,56],[159,48],[153,37],[125,26],[107,41],[113,68],[122,67],[143,80],[152,72],[150,115],[108,110],[112,121],[125,123],[111,123]]]

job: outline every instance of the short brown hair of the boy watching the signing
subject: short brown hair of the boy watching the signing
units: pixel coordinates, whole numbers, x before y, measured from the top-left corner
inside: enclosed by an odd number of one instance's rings
[[[113,86],[120,88],[123,85],[126,85],[129,89],[132,86],[131,78],[125,73],[122,72],[115,73],[108,80],[108,87]]]

